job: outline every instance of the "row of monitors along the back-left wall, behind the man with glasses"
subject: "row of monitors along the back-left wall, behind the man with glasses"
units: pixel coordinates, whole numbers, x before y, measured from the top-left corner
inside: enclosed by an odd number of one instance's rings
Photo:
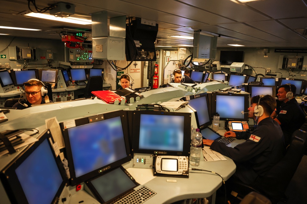
[[[30,79],[38,79],[43,83],[57,83],[58,69],[26,69],[20,71],[1,71],[0,83],[2,87],[22,86]],[[102,69],[62,69],[65,83],[87,81],[87,76],[102,76]]]

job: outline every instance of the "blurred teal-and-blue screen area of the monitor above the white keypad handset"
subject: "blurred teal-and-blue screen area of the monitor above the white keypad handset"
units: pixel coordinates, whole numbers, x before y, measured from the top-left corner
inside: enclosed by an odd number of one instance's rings
[[[141,114],[139,149],[183,151],[184,116]]]

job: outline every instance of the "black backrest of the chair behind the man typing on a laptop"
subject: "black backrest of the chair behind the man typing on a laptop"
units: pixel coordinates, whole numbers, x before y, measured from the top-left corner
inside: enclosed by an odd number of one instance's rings
[[[270,199],[278,200],[283,197],[305,153],[306,141],[306,131],[299,129],[293,132],[285,156],[265,176],[256,181]]]

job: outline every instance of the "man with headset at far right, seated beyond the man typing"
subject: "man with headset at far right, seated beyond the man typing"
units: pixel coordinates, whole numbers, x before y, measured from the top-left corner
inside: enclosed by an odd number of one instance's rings
[[[271,114],[274,121],[282,128],[286,145],[290,143],[292,133],[306,121],[305,113],[295,99],[295,93],[296,87],[293,84],[287,83],[278,87],[277,96],[282,104]]]

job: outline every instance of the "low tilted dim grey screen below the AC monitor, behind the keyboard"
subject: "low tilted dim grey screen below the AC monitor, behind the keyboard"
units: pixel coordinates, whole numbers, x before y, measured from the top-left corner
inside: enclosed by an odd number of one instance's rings
[[[104,202],[107,202],[136,186],[120,168],[104,173],[102,176],[92,180],[91,183]]]

